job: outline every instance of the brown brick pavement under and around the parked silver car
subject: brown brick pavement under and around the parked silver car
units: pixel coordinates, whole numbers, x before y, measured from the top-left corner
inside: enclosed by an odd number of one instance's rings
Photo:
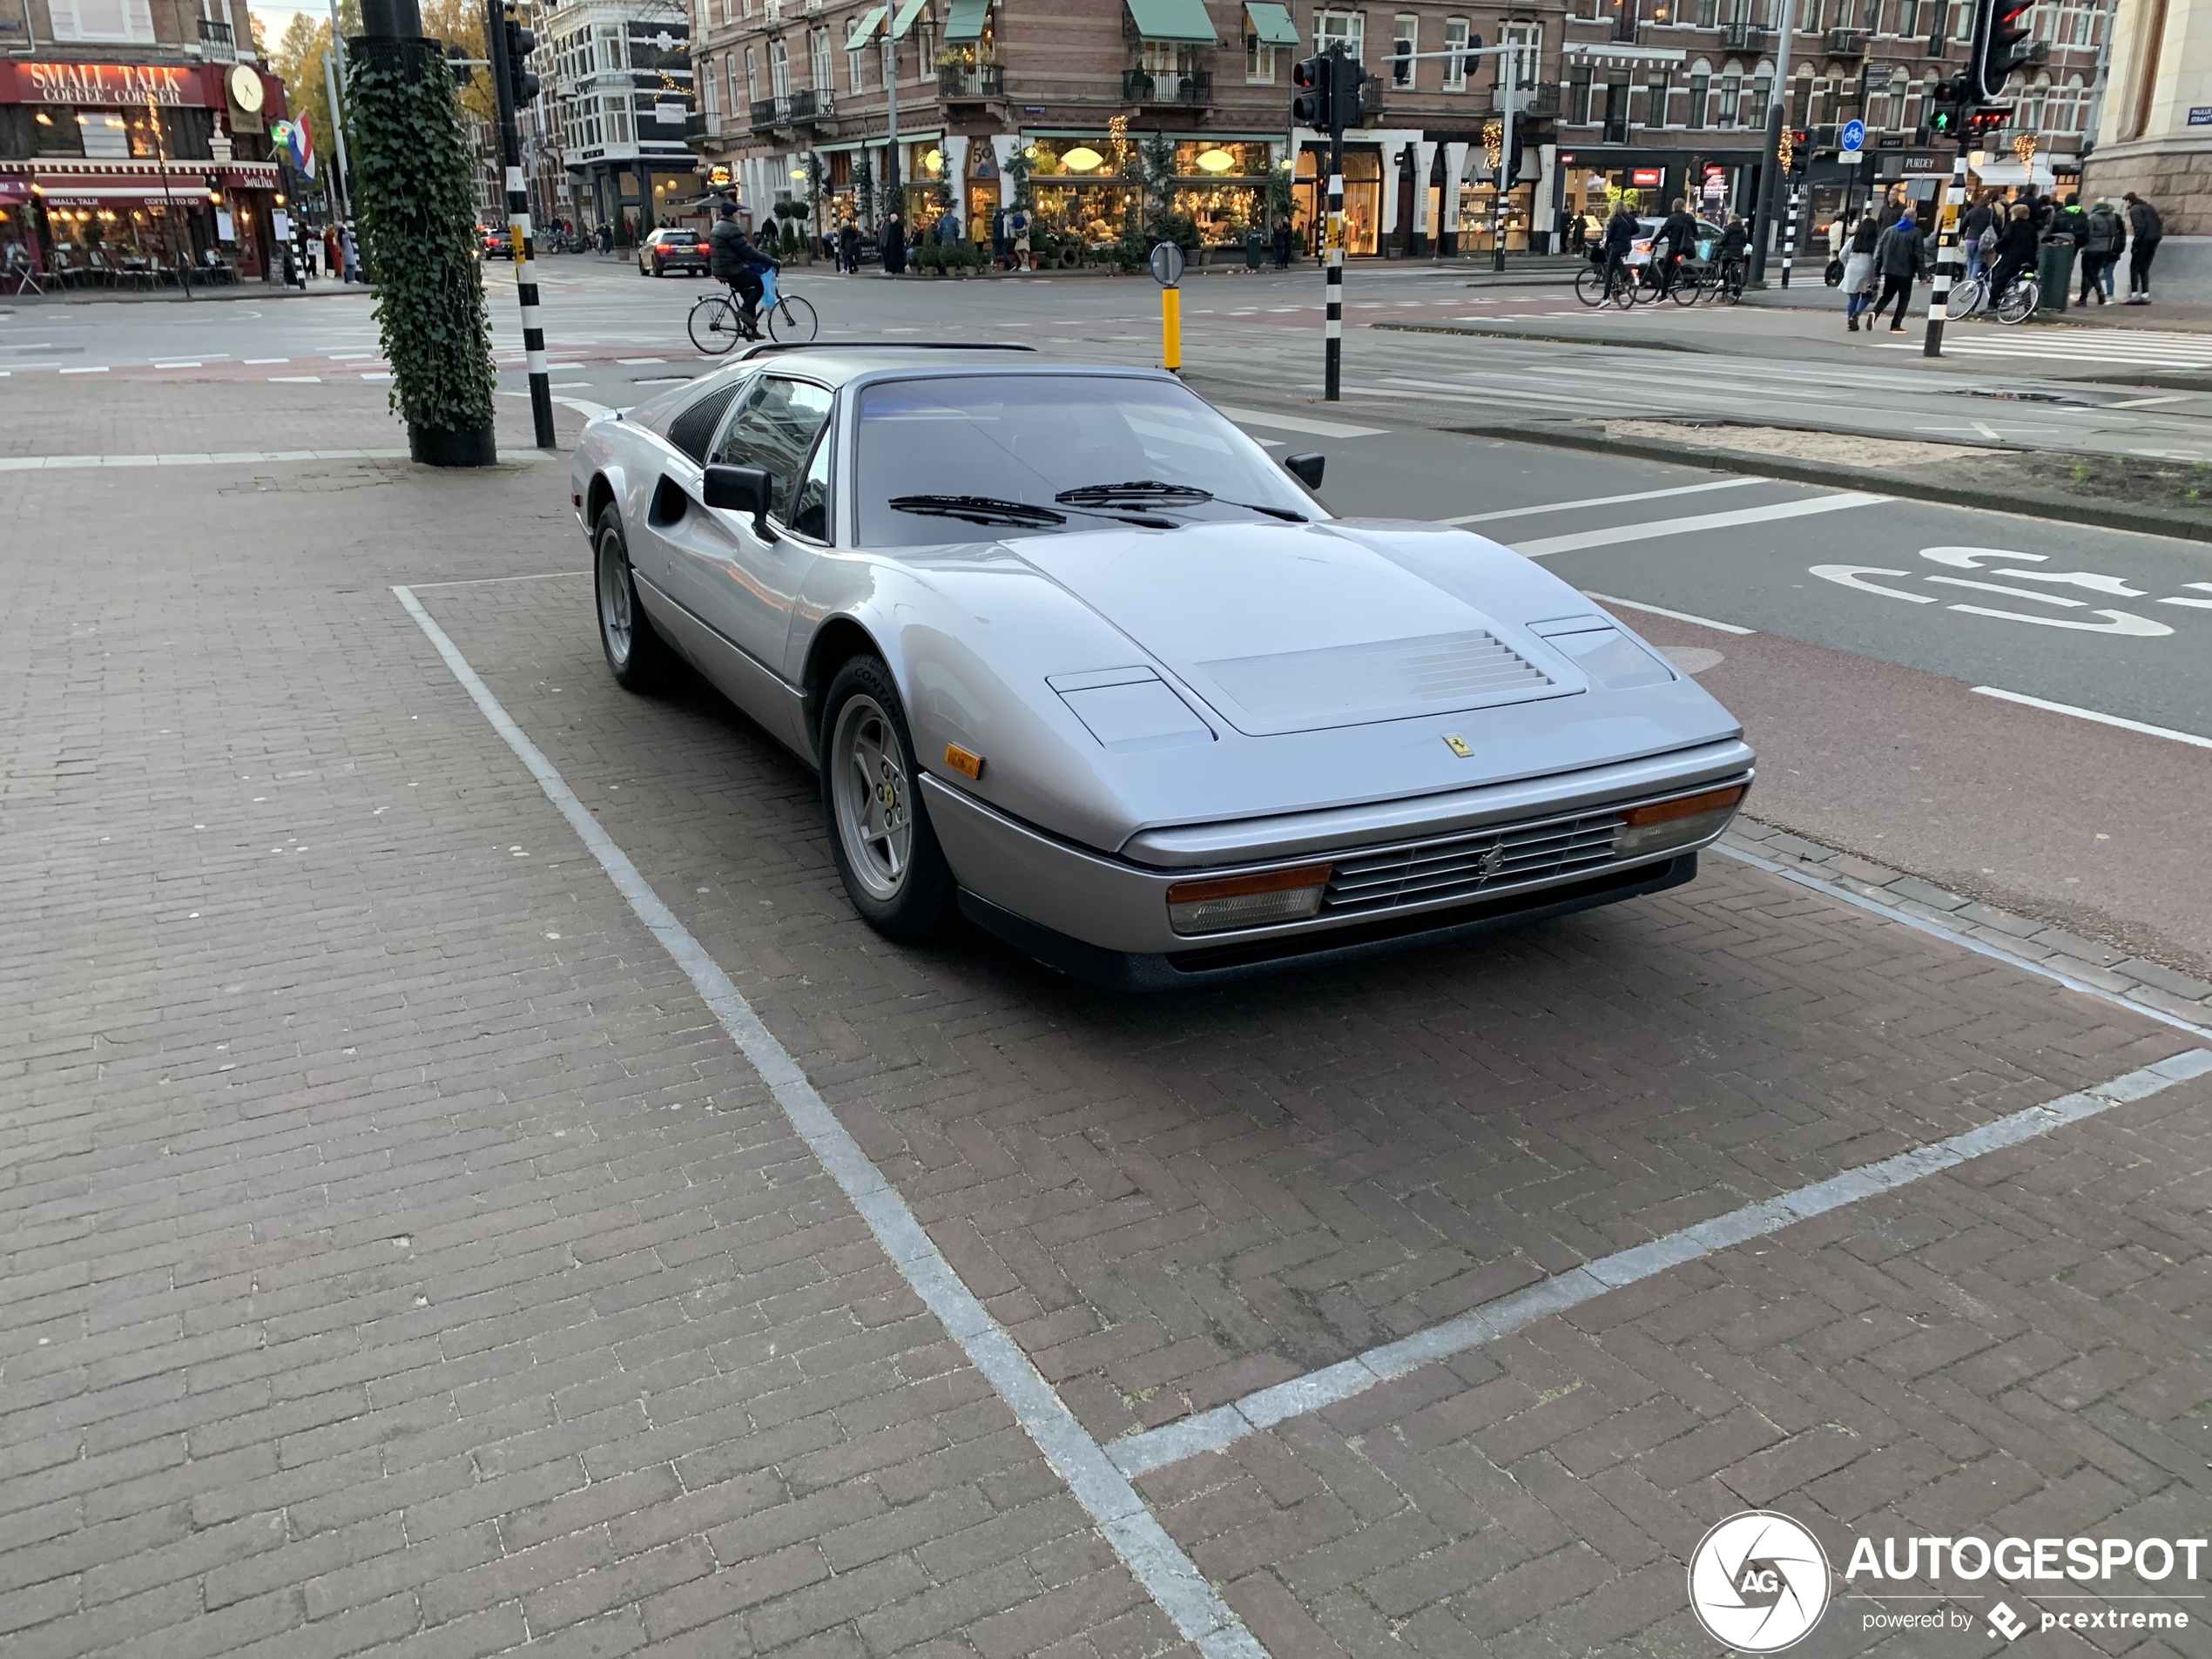
[[[383,436],[374,392],[46,396],[44,451]],[[392,604],[580,568],[551,473],[0,511],[11,1659],[1172,1650]],[[1725,863],[1172,1000],[896,951],[801,768],[606,684],[584,582],[425,602],[1102,1438],[2185,1046]],[[2150,1513],[2203,1484],[2203,1106],[1144,1484],[1279,1655],[1690,1650],[1679,1559],[1743,1502]]]

